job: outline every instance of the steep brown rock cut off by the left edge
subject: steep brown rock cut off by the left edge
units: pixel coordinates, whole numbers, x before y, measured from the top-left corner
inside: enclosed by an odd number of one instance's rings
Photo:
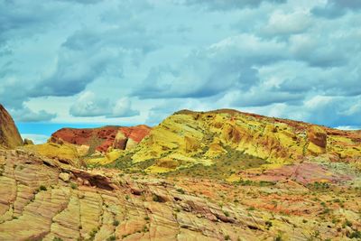
[[[17,130],[12,116],[0,105],[0,147],[14,148],[23,145],[23,139]]]

